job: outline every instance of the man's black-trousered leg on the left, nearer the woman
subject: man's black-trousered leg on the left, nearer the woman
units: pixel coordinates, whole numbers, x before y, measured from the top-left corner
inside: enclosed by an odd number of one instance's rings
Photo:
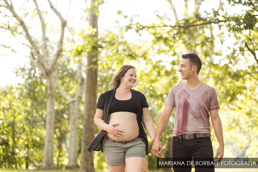
[[[173,138],[172,141],[172,158],[173,162],[176,161],[191,161],[191,145],[190,142],[186,139]],[[185,165],[187,165],[185,163]],[[191,172],[191,165],[188,168],[178,168],[179,166],[173,165],[173,170],[175,172]]]

